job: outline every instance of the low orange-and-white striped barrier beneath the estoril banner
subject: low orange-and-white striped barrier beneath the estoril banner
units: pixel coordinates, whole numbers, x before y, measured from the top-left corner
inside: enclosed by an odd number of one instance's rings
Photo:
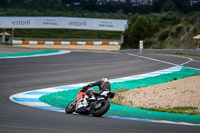
[[[23,41],[13,40],[13,44],[23,45],[121,45],[117,41]]]

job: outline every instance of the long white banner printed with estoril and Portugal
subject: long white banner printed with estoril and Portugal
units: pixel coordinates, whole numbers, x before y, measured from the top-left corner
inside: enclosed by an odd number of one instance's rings
[[[0,17],[0,28],[124,31],[127,20],[73,17]]]

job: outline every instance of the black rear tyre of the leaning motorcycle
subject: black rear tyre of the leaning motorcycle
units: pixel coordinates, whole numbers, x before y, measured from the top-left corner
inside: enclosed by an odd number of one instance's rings
[[[104,115],[110,108],[110,103],[107,100],[101,100],[98,104],[101,104],[99,108],[94,108],[91,111],[91,114],[96,117]]]

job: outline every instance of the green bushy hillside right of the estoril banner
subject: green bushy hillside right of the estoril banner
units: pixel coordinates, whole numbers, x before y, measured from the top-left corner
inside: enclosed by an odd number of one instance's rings
[[[195,48],[192,38],[200,32],[200,12],[184,14],[169,0],[160,13],[133,14],[124,32],[121,49],[139,48]]]

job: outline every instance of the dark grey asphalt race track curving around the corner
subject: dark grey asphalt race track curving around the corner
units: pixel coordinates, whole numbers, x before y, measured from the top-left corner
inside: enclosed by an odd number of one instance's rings
[[[91,82],[102,76],[120,78],[166,69],[174,66],[172,64],[200,67],[199,60],[188,58],[139,56],[71,52],[47,57],[0,59],[0,133],[199,133],[199,126],[67,115],[9,100],[9,96],[23,91]]]

